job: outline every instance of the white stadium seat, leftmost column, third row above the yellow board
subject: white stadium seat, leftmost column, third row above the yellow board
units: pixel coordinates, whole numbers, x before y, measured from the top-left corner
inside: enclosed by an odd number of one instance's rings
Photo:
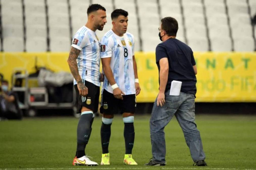
[[[4,25],[22,25],[23,26],[23,16],[20,14],[3,14],[1,15],[2,26]]]

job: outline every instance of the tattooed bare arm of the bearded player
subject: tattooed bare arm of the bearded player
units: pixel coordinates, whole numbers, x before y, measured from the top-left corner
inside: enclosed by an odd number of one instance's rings
[[[77,67],[77,57],[80,53],[80,50],[71,47],[69,56],[68,56],[68,65],[70,68],[70,71],[74,77],[74,79],[77,81],[77,88],[79,90],[79,94],[82,96],[86,96],[88,94],[87,87],[83,84],[81,76],[79,75],[78,67]]]

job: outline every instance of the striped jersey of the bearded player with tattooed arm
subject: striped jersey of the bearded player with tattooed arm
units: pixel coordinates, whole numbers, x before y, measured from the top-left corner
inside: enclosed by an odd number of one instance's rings
[[[96,33],[86,26],[81,27],[74,35],[71,46],[81,51],[77,57],[81,78],[100,86],[100,41]],[[77,84],[75,79],[74,84]]]

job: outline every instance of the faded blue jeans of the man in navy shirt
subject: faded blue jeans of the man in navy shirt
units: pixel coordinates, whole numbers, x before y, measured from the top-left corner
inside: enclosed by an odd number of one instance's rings
[[[150,118],[150,137],[153,161],[165,163],[165,137],[164,128],[173,115],[176,116],[184,133],[194,162],[205,159],[200,132],[195,123],[195,97],[191,93],[180,92],[179,96],[165,93],[165,104],[157,106],[155,100]]]

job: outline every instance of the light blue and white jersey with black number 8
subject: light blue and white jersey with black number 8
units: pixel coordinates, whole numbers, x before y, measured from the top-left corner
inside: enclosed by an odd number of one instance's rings
[[[126,32],[119,37],[112,30],[101,39],[101,58],[112,57],[110,67],[118,87],[126,94],[135,94],[133,59],[134,36]],[[113,93],[110,83],[104,77],[103,88]]]

